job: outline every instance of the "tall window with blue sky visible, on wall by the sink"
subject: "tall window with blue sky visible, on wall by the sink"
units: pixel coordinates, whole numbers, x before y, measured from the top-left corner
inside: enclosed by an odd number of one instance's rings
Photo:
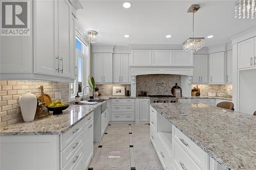
[[[75,59],[75,81],[70,83],[70,96],[73,98],[78,92],[82,94],[82,87],[86,86],[87,78],[90,74],[90,47],[84,43],[78,36],[75,40],[76,46],[76,59]]]

